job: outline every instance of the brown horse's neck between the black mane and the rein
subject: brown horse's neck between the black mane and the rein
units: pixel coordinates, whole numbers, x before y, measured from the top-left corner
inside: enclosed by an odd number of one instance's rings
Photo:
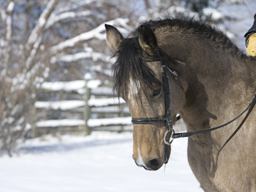
[[[170,42],[168,54],[187,67],[186,104],[180,112],[190,131],[223,124],[246,108],[256,91],[256,61],[205,42],[192,48],[184,39]]]

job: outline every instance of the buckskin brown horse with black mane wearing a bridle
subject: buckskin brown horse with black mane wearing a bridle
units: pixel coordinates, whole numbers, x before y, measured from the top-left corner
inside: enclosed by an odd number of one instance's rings
[[[105,26],[116,57],[113,87],[134,120],[132,157],[138,166],[158,170],[168,162],[173,129],[166,131],[165,122],[174,125],[177,114],[193,132],[225,124],[248,108],[256,60],[219,29],[168,18],[143,22],[124,38]],[[251,108],[221,129],[189,136],[189,166],[204,191],[256,191],[255,120]]]

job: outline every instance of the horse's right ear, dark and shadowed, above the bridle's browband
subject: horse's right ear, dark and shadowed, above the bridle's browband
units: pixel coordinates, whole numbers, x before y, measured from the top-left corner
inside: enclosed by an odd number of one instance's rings
[[[147,26],[140,26],[139,28],[139,42],[141,48],[149,53],[153,54],[157,50],[157,40],[152,29],[148,28]]]

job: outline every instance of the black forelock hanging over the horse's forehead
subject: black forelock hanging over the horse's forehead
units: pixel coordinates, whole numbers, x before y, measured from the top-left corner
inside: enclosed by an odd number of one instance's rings
[[[130,78],[134,80],[138,88],[139,95],[147,92],[147,87],[161,85],[155,77],[154,72],[146,65],[142,58],[142,49],[138,42],[138,37],[126,38],[115,53],[116,62],[113,64],[113,88],[118,93],[122,93],[127,99]]]

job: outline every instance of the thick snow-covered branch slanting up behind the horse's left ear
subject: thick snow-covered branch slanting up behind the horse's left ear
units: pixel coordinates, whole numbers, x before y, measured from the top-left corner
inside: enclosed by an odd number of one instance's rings
[[[120,31],[127,32],[126,29],[129,29],[129,26],[127,25],[128,22],[129,22],[129,19],[118,18],[118,19],[110,20],[106,23],[111,25],[115,25],[116,23],[118,23],[120,24],[120,26],[123,27],[123,29],[121,28]],[[90,40],[92,38],[97,38],[99,40],[106,40],[106,35],[102,33],[105,31],[104,24],[105,23],[100,24],[97,28],[92,29],[91,31],[81,33],[80,35],[77,35],[73,38],[65,40],[64,42],[61,42],[60,44],[54,45],[53,47],[51,47],[51,51],[52,52],[62,51],[63,49],[66,49],[68,47],[74,47],[78,43],[84,42],[86,40]]]

